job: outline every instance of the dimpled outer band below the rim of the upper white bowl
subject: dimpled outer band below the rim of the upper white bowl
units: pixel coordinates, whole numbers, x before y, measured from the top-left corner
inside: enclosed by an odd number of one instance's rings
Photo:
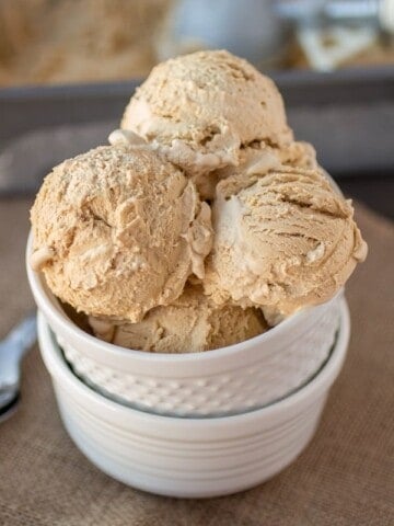
[[[240,356],[239,365],[225,370],[223,358],[223,370],[209,374],[207,368],[204,376],[187,376],[186,370],[181,377],[132,375],[117,369],[116,364],[106,367],[85,356],[83,350],[60,336],[57,341],[77,376],[114,400],[158,414],[235,414],[282,398],[318,370],[334,344],[339,323],[338,302],[327,307],[292,343],[259,350],[256,342],[245,361]],[[190,369],[189,374],[193,366]]]

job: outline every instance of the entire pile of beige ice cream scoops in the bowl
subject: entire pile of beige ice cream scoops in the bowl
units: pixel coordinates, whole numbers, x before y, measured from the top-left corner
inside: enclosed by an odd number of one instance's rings
[[[367,255],[274,82],[228,52],[155,67],[109,142],[56,167],[31,215],[32,266],[97,338],[237,343],[332,298]]]

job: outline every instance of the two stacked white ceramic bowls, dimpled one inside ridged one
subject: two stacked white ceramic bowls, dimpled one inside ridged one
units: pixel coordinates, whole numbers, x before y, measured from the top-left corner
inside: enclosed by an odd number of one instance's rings
[[[27,275],[71,438],[104,472],[153,493],[222,495],[279,472],[312,438],[346,355],[343,293],[236,345],[154,354],[82,331],[28,264]]]

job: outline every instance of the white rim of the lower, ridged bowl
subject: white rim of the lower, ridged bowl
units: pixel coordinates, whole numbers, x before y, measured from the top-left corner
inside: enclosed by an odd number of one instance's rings
[[[223,416],[208,416],[208,418],[189,418],[189,416],[166,416],[155,413],[148,413],[128,405],[106,398],[104,395],[95,391],[93,388],[80,380],[68,367],[61,354],[59,345],[55,341],[55,335],[49,328],[43,312],[38,311],[38,334],[40,342],[40,353],[44,363],[53,377],[53,380],[59,382],[61,387],[68,386],[69,390],[74,391],[78,396],[78,401],[83,397],[94,404],[101,405],[101,410],[109,411],[116,415],[125,418],[138,416],[144,422],[171,423],[179,424],[187,423],[187,425],[196,426],[211,426],[212,423],[228,424],[228,423],[248,423],[259,418],[269,418],[282,411],[289,411],[294,405],[302,404],[308,399],[315,400],[323,391],[327,391],[336,377],[338,376],[343,363],[346,357],[347,347],[350,339],[350,316],[348,305],[343,298],[340,300],[340,324],[336,344],[323,367],[317,374],[303,387],[297,391],[286,396],[282,399],[274,401],[264,408],[247,411],[245,413]],[[80,396],[79,396],[80,395]]]

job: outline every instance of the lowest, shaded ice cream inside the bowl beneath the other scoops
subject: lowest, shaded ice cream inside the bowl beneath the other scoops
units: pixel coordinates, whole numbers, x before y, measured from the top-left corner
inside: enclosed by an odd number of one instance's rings
[[[193,353],[243,342],[267,329],[259,309],[216,306],[200,286],[187,285],[171,306],[155,307],[139,323],[90,317],[94,334],[127,348]]]

